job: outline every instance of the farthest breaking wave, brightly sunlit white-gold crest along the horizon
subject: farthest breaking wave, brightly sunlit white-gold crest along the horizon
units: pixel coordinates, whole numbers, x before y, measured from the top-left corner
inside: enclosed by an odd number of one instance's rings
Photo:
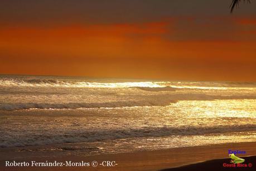
[[[96,81],[96,80],[94,80]],[[59,77],[33,79],[30,77],[1,77],[0,86],[41,86],[41,87],[95,87],[124,88],[134,87],[144,91],[175,91],[175,89],[225,89],[256,87],[256,82],[188,82],[188,81],[131,81],[129,82],[93,82],[83,79],[61,79]]]

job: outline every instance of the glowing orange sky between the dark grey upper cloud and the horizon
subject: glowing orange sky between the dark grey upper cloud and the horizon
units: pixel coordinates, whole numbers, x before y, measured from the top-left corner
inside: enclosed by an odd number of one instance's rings
[[[16,21],[0,37],[1,74],[256,81],[254,16]]]

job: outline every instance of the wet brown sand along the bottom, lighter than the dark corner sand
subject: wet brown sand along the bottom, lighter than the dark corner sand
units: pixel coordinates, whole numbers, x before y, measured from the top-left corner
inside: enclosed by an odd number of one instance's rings
[[[46,153],[40,152],[11,152],[11,149],[0,149],[0,170],[162,170],[168,168],[175,168],[183,170],[190,170],[189,167],[197,167],[197,165],[191,165],[197,163],[198,168],[211,169],[212,165],[219,163],[222,169],[222,164],[224,162],[228,163],[230,159],[228,155],[228,150],[244,150],[246,154],[238,155],[238,157],[253,156],[256,155],[256,142],[250,143],[228,143],[228,144],[218,144],[209,146],[191,146],[185,148],[173,148],[166,150],[154,150],[154,151],[141,151],[134,153],[119,153],[119,154],[99,154],[91,156],[79,156],[79,155],[66,155],[66,156],[53,156],[45,157]],[[44,154],[44,155],[41,155]],[[37,162],[64,162],[72,160],[73,162],[92,162],[96,160],[98,163],[102,163],[104,160],[115,161],[118,165],[114,167],[103,167],[98,165],[98,167],[4,167],[5,160],[13,160],[14,156],[24,156],[21,162],[24,160],[31,162],[31,160],[36,160]],[[252,158],[253,167],[256,167],[255,157]],[[222,160],[215,160],[222,159]],[[254,160],[253,160],[254,159]],[[209,161],[202,163],[205,161]],[[245,163],[247,163],[248,158],[246,158]],[[18,161],[18,160],[16,160]],[[187,167],[182,167],[185,165],[190,165]],[[227,169],[227,168],[225,168]],[[199,169],[196,169],[199,170]]]

